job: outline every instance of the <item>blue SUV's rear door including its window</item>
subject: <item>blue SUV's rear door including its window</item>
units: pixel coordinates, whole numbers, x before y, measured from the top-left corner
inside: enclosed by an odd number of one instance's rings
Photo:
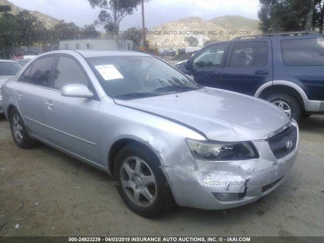
[[[272,78],[270,39],[232,42],[222,70],[221,89],[254,96]]]

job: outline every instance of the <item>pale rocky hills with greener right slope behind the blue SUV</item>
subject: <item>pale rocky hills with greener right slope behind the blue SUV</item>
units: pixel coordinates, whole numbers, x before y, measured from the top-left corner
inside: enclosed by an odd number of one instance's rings
[[[186,47],[185,37],[194,36],[198,46],[210,41],[226,41],[240,35],[260,33],[258,20],[242,16],[222,16],[210,21],[198,17],[180,19],[152,28],[147,39],[158,47]]]

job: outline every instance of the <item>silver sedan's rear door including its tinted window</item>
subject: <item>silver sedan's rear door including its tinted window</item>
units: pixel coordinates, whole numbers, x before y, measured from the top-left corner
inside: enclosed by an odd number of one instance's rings
[[[43,112],[44,95],[49,90],[55,58],[51,55],[34,61],[18,79],[20,89],[15,90],[18,109],[28,130],[44,140],[48,139]]]

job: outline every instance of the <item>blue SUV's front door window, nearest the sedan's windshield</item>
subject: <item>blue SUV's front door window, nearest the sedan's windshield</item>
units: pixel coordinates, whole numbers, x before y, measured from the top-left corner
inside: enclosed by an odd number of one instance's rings
[[[226,44],[222,44],[207,48],[204,52],[201,52],[199,55],[197,55],[197,57],[194,58],[192,67],[203,68],[221,66],[226,46]]]

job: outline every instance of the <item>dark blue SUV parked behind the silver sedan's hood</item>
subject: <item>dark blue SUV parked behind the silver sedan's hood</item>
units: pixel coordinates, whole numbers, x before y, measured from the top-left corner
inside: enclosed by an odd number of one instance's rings
[[[297,121],[324,113],[324,36],[289,32],[207,45],[174,65],[196,83],[270,101]]]

